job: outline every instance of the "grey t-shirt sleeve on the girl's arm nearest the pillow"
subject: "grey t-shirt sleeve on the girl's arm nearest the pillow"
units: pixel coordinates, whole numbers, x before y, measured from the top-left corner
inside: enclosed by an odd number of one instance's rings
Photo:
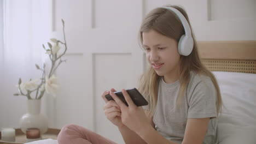
[[[217,92],[211,79],[203,79],[194,83],[189,94],[188,118],[217,117]]]

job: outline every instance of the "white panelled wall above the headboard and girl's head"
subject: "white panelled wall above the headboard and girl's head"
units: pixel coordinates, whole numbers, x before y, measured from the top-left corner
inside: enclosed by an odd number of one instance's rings
[[[146,12],[156,5],[182,5],[199,41],[256,39],[255,0],[150,0],[145,3]]]

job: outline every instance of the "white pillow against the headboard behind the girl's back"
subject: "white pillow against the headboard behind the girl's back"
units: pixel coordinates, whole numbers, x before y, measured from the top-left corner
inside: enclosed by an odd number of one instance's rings
[[[214,71],[223,99],[220,144],[256,143],[256,74]]]

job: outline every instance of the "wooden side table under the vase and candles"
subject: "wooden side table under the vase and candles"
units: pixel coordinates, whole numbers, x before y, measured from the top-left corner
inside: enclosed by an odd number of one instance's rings
[[[53,140],[57,140],[57,136],[60,133],[60,129],[52,129],[52,128],[48,128],[48,131],[41,135],[42,140],[44,139],[53,139]],[[23,144],[26,143],[26,134],[24,134],[21,129],[15,129],[15,142],[6,142],[6,141],[2,141],[1,140],[1,131],[0,131],[0,144]]]

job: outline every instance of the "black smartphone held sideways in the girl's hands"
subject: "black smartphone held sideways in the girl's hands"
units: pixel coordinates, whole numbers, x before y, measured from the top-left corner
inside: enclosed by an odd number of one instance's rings
[[[136,88],[132,88],[132,89],[126,89],[126,92],[130,95],[133,103],[137,106],[143,106],[143,105],[148,105],[148,101],[142,96],[141,93],[139,93],[139,91]],[[121,101],[123,101],[123,103],[126,104],[126,106],[128,106],[124,95],[122,92],[114,92]],[[110,94],[105,95],[107,100],[114,100]]]

